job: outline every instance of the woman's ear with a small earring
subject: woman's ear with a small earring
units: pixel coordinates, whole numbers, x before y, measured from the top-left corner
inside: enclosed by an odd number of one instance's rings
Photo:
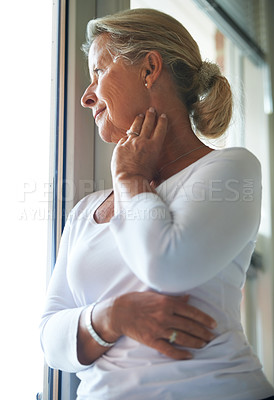
[[[162,69],[163,59],[161,54],[156,50],[152,50],[147,53],[143,60],[142,66],[142,79],[147,89],[150,89],[156,82],[162,72]]]

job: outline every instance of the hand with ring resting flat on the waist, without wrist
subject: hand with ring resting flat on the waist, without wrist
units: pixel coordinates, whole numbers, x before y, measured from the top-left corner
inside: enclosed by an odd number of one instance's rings
[[[214,338],[209,329],[216,322],[199,309],[187,304],[188,296],[167,296],[156,292],[133,292],[114,301],[111,326],[114,336],[130,338],[184,360],[191,358],[187,350],[175,345],[202,348]],[[175,334],[174,334],[175,332]],[[170,338],[174,336],[174,343]]]

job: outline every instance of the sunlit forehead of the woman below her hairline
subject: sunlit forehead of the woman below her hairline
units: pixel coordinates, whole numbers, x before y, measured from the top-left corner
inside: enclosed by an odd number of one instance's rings
[[[93,71],[94,67],[100,63],[108,63],[112,61],[112,57],[107,49],[109,37],[107,34],[101,34],[93,41],[89,49],[88,64],[90,70]]]

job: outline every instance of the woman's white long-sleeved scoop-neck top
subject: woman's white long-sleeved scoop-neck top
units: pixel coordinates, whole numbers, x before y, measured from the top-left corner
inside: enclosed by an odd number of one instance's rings
[[[213,151],[131,199],[110,223],[94,212],[111,191],[70,213],[41,323],[48,364],[76,372],[78,400],[260,400],[274,394],[240,322],[241,289],[260,223],[261,172],[246,149]],[[77,359],[88,304],[131,291],[190,295],[217,321],[216,339],[176,361],[129,337],[90,366]]]

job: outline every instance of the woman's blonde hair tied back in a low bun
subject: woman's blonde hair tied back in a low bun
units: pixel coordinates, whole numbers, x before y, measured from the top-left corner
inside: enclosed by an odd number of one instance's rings
[[[202,61],[197,43],[179,21],[149,8],[93,19],[82,46],[86,55],[103,33],[110,37],[109,51],[126,62],[137,63],[149,51],[158,51],[195,128],[214,138],[225,132],[232,115],[230,85],[217,64]]]

